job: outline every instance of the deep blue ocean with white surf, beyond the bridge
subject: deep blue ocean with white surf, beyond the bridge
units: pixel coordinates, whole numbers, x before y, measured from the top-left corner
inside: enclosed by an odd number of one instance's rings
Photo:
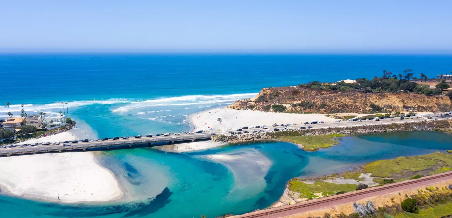
[[[99,137],[179,132],[187,115],[253,97],[261,88],[381,76],[407,68],[450,72],[452,55],[0,55],[0,118],[68,102]],[[8,109],[6,103],[10,102]]]

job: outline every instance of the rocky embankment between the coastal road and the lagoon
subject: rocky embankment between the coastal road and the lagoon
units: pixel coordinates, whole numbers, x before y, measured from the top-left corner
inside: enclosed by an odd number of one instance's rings
[[[372,134],[385,132],[403,132],[403,131],[432,131],[442,128],[450,128],[451,122],[449,120],[436,121],[422,121],[415,123],[391,123],[389,125],[369,125],[358,127],[335,127],[335,128],[321,128],[311,130],[297,130],[285,132],[259,132],[254,134],[240,134],[240,135],[219,135],[213,138],[214,141],[221,141],[226,143],[240,143],[247,141],[261,141],[261,140],[275,140],[282,136],[319,136],[328,134]]]

